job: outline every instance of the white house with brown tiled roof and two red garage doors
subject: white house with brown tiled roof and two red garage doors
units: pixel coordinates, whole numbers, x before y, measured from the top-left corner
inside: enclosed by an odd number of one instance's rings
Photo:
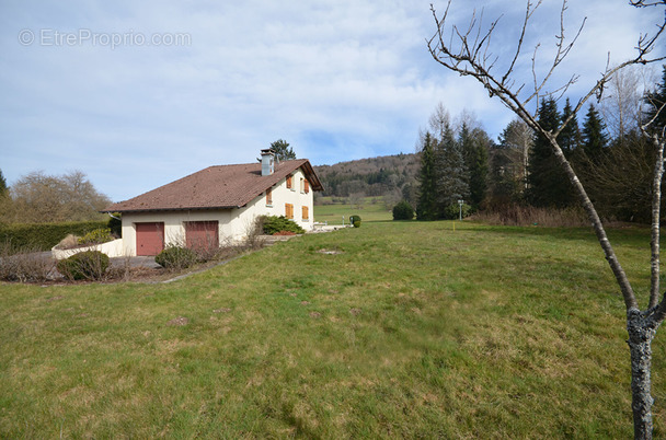
[[[259,216],[286,216],[312,230],[312,192],[323,190],[307,159],[209,166],[157,189],[111,205],[120,212],[123,253],[157,255],[164,245],[218,246],[242,241]]]

